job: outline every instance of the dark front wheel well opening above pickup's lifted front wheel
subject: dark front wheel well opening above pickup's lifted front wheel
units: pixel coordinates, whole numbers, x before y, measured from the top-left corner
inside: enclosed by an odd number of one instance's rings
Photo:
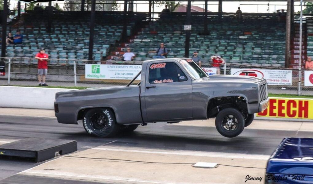
[[[240,112],[248,113],[247,101],[242,96],[225,96],[213,98],[208,103],[207,118],[215,117],[221,110],[233,107]]]

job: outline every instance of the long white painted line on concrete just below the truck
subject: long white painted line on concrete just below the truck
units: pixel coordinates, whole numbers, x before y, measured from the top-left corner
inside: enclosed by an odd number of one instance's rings
[[[92,150],[103,151],[123,151],[134,153],[149,153],[149,154],[168,154],[168,155],[186,155],[186,156],[206,156],[206,157],[219,157],[219,158],[242,158],[242,159],[254,159],[254,160],[268,160],[269,155],[252,155],[252,154],[239,154],[239,153],[223,153],[223,152],[200,152],[200,151],[182,151],[177,150],[175,152],[167,151],[146,151],[146,150],[129,150],[118,148],[91,148]]]

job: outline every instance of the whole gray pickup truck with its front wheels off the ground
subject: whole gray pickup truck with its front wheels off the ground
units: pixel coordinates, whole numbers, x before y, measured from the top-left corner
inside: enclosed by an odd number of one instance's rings
[[[138,84],[133,84],[141,74]],[[215,117],[218,132],[239,135],[254,113],[268,106],[267,83],[246,76],[208,76],[192,59],[155,59],[126,86],[58,92],[59,123],[78,124],[100,137],[133,131],[147,123],[178,123]]]

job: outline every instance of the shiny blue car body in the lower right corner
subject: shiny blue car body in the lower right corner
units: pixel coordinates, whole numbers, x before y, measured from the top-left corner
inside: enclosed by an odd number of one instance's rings
[[[313,139],[285,138],[269,158],[265,183],[313,184]]]

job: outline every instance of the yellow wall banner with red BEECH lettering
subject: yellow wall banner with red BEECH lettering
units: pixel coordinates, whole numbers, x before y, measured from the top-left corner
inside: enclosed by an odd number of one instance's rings
[[[313,99],[269,97],[269,106],[259,117],[313,119]]]

